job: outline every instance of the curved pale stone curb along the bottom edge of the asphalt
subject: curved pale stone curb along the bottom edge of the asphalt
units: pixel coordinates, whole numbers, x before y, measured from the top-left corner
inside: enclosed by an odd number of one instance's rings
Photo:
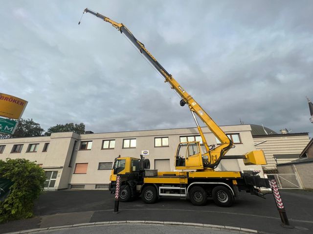
[[[45,231],[57,231],[57,230],[65,230],[70,228],[82,228],[82,227],[92,227],[92,226],[108,226],[108,225],[185,225],[185,226],[193,226],[198,228],[208,228],[212,230],[228,230],[235,233],[241,234],[269,234],[265,232],[258,232],[257,230],[247,229],[247,228],[239,228],[239,227],[231,227],[231,226],[222,226],[222,225],[213,225],[213,224],[203,224],[203,223],[183,223],[183,222],[168,222],[168,221],[148,221],[148,220],[125,220],[125,221],[103,221],[103,222],[94,222],[94,223],[78,223],[64,226],[55,226],[55,227],[47,227],[47,228],[36,228],[23,230],[20,232],[6,233],[6,234],[31,234],[31,233],[39,233]]]

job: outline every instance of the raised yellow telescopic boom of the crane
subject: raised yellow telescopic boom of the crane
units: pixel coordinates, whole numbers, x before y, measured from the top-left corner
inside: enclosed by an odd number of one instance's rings
[[[201,106],[192,98],[177,82],[176,79],[173,78],[171,74],[169,74],[162,65],[150,54],[150,52],[145,48],[144,44],[137,40],[134,35],[131,33],[128,28],[122,24],[117,23],[110,18],[103,16],[97,12],[89,10],[86,8],[84,13],[88,12],[92,15],[112,24],[114,28],[123,33],[141,52],[141,54],[150,61],[150,63],[156,68],[156,70],[165,78],[164,82],[168,82],[171,85],[171,88],[174,89],[179,96],[181,97],[180,105],[184,106],[188,105],[193,118],[197,124],[198,131],[202,138],[202,142],[205,146],[206,153],[203,156],[208,157],[208,164],[205,167],[216,168],[220,163],[222,157],[227,153],[227,151],[232,148],[233,142],[226,136],[223,130],[213,121],[213,119],[201,108]],[[211,132],[219,139],[221,145],[216,148],[210,147],[203,135],[201,127],[198,123],[196,115],[205,123],[205,125],[211,130]],[[204,166],[204,165],[203,165]]]

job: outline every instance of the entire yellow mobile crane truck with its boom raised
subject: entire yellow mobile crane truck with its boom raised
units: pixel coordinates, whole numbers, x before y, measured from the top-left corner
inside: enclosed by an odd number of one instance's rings
[[[208,197],[212,197],[218,206],[229,207],[233,204],[239,191],[246,191],[251,195],[264,198],[261,188],[270,188],[268,179],[234,171],[214,171],[227,151],[234,146],[223,130],[201,108],[176,79],[169,74],[162,65],[145,48],[144,44],[137,40],[131,31],[122,23],[117,23],[106,16],[86,8],[84,13],[92,15],[112,24],[120,33],[123,33],[149,60],[156,70],[168,82],[180,96],[180,105],[187,104],[196,122],[205,152],[201,152],[199,141],[181,142],[175,154],[175,172],[157,172],[150,169],[148,159],[134,157],[115,158],[110,175],[110,190],[115,191],[116,176],[123,176],[120,188],[120,200],[129,201],[133,197],[141,195],[145,203],[155,203],[161,196],[177,196],[188,198],[194,205],[205,205]],[[221,145],[215,147],[209,145],[203,135],[197,117],[219,139]],[[243,158],[246,165],[266,164],[262,150],[247,153]]]

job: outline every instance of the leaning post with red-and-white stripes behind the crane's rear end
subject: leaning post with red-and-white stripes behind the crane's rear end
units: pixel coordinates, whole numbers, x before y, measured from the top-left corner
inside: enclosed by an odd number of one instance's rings
[[[274,196],[274,199],[275,199],[275,202],[276,202],[277,210],[279,212],[279,216],[280,216],[280,219],[282,221],[281,225],[284,228],[293,228],[289,224],[287,213],[286,213],[286,210],[285,210],[285,207],[284,207],[284,204],[283,204],[283,200],[282,200],[282,198],[280,196],[280,193],[279,193],[279,190],[278,190],[278,187],[277,187],[277,182],[276,182],[275,176],[268,176],[268,179],[269,179],[269,185],[270,185],[270,187],[272,189],[273,196]]]

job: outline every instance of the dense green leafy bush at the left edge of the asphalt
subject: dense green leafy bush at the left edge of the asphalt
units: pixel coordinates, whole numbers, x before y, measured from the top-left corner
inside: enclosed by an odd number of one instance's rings
[[[0,202],[0,223],[33,216],[34,201],[45,185],[45,171],[35,162],[18,158],[0,160],[0,178],[13,182],[11,192]]]

